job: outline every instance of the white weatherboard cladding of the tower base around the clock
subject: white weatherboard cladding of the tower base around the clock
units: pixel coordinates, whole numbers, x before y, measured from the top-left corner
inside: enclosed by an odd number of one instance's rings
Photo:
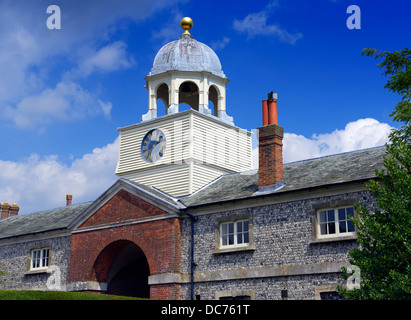
[[[145,134],[161,130],[167,147],[161,160],[141,157]],[[172,196],[191,194],[222,174],[252,168],[251,133],[194,110],[121,128],[116,174]]]

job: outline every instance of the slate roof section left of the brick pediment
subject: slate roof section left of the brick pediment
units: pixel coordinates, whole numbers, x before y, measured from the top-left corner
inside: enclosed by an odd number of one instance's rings
[[[91,202],[20,215],[0,221],[0,239],[65,229]]]

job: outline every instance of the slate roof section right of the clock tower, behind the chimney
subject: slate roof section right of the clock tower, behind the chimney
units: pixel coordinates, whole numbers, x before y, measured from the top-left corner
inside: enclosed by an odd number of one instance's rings
[[[385,147],[378,147],[284,164],[284,186],[273,193],[374,178],[384,155]],[[256,197],[257,191],[258,170],[251,170],[223,175],[180,201],[191,207]]]

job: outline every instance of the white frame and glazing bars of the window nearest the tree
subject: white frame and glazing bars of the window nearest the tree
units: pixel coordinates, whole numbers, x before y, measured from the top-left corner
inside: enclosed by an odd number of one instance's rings
[[[355,207],[353,205],[345,205],[345,206],[338,206],[338,207],[326,207],[326,208],[318,208],[316,211],[316,229],[317,229],[317,239],[332,239],[332,238],[341,238],[341,237],[353,237],[356,235],[355,225],[352,224],[354,228],[353,231],[348,231],[349,229],[349,215],[347,212],[348,208],[352,208],[352,213],[350,216],[355,217]],[[345,219],[340,219],[340,210],[345,209]],[[333,219],[330,218],[330,212],[333,211]],[[322,213],[325,213],[325,220],[321,217]],[[345,222],[345,227],[347,231],[340,230],[340,223]],[[329,226],[330,223],[334,224],[334,233],[329,233]],[[321,234],[322,225],[326,227],[327,233]]]

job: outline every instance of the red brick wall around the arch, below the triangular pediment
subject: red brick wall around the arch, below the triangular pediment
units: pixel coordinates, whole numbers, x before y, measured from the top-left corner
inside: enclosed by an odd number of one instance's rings
[[[116,254],[127,243],[136,244],[147,259],[150,276],[180,273],[181,226],[178,218],[77,232],[72,235],[70,283],[107,284],[107,275]],[[105,291],[105,290],[104,290]],[[152,299],[179,299],[177,284],[150,285]]]

